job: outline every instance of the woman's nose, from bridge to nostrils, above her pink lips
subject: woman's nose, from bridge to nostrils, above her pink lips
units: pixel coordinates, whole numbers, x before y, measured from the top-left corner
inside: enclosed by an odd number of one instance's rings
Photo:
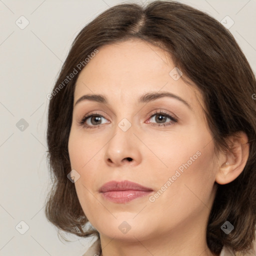
[[[104,160],[109,166],[135,166],[141,162],[141,141],[133,134],[133,125],[126,131],[116,125],[106,144]]]

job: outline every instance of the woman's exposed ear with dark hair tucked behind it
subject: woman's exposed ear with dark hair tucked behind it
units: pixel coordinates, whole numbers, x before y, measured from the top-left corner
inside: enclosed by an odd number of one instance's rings
[[[249,143],[245,132],[236,132],[227,140],[233,153],[230,150],[221,152],[215,179],[219,184],[229,183],[238,177],[249,157]]]

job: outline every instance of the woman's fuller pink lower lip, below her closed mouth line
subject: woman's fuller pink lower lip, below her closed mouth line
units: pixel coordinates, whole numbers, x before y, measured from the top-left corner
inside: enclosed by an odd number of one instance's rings
[[[148,195],[152,191],[141,191],[141,190],[124,190],[124,191],[107,191],[101,192],[102,196],[109,201],[124,203]]]

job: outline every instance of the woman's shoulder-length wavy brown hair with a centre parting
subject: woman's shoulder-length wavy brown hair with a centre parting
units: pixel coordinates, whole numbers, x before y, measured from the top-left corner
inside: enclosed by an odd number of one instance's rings
[[[213,253],[226,245],[233,251],[250,252],[256,221],[256,114],[253,93],[256,80],[232,34],[208,14],[176,1],[115,5],[89,22],[74,39],[53,91],[95,49],[109,43],[140,38],[166,50],[186,82],[203,95],[205,115],[216,151],[227,150],[226,138],[237,131],[248,136],[249,157],[242,173],[232,182],[217,186],[206,238]],[[100,49],[99,49],[100,50]],[[78,73],[52,94],[48,109],[48,159],[53,177],[45,214],[59,229],[78,236],[99,235],[86,229],[88,219],[78,201],[74,184],[67,178],[67,150],[72,120],[73,92]],[[231,149],[230,149],[231,150]],[[221,225],[234,229],[227,235]]]

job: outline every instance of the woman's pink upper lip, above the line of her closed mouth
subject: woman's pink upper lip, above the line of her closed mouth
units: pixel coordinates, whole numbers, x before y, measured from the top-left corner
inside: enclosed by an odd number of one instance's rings
[[[129,180],[121,180],[121,181],[109,181],[103,184],[99,192],[107,192],[107,191],[124,191],[124,190],[140,190],[140,191],[152,191],[152,188],[142,186],[138,183],[129,181]]]

